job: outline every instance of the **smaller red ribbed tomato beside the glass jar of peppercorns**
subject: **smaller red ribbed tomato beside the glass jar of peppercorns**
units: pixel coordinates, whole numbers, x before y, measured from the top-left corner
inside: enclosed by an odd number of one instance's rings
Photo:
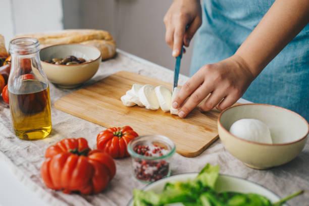
[[[129,141],[138,134],[129,126],[112,127],[101,131],[96,137],[96,147],[109,153],[113,158],[130,156],[127,150]]]

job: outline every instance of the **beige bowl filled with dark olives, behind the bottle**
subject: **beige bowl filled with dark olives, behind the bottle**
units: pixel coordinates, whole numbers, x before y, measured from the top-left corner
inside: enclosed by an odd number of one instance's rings
[[[92,61],[76,65],[55,65],[43,62],[44,60],[65,58],[70,55]],[[101,52],[89,45],[59,44],[42,48],[40,59],[42,69],[50,82],[62,88],[75,88],[96,73],[101,62]]]

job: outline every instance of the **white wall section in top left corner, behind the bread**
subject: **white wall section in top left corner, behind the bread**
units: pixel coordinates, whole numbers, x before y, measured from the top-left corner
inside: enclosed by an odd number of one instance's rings
[[[9,41],[18,33],[63,29],[61,0],[1,0],[0,33]]]

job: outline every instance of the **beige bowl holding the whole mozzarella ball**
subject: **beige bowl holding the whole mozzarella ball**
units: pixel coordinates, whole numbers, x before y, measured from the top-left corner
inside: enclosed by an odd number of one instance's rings
[[[232,135],[231,125],[243,118],[268,125],[273,144],[248,141]],[[277,106],[245,104],[224,110],[218,118],[220,139],[231,155],[254,169],[267,169],[293,160],[303,149],[309,125],[300,115]]]

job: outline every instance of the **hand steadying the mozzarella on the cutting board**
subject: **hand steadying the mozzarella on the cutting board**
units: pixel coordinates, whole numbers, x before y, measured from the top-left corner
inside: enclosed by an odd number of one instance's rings
[[[245,61],[236,55],[216,64],[204,65],[183,85],[172,107],[181,106],[178,115],[184,118],[211,93],[199,109],[210,111],[217,106],[217,109],[224,110],[242,96],[255,77]]]

